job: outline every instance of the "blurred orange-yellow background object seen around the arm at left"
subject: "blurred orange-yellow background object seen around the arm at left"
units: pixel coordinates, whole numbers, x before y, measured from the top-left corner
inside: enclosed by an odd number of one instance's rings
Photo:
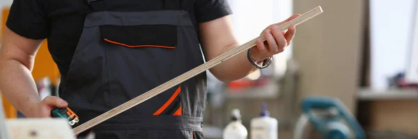
[[[4,29],[6,28],[6,21],[8,17],[8,13],[10,8],[3,8],[2,10],[2,30],[1,35],[4,33]],[[3,38],[3,37],[1,37]],[[44,40],[42,44],[40,44],[40,48],[35,57],[35,63],[33,65],[32,76],[35,81],[38,81],[42,78],[49,77],[52,81],[52,85],[57,85],[59,78],[59,70],[54,60],[52,60],[51,54],[49,54],[47,41]],[[17,117],[17,110],[14,108],[5,97],[3,97],[3,107],[4,112],[6,114],[6,118],[16,118]]]

